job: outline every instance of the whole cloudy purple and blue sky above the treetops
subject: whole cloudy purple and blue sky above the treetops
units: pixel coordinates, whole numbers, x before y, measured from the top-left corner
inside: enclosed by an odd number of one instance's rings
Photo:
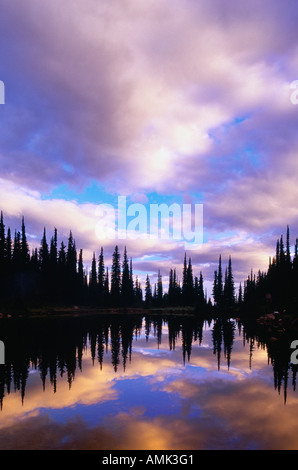
[[[86,266],[127,246],[181,273],[181,240],[102,237],[98,207],[203,205],[194,274],[235,282],[298,236],[295,0],[0,0],[0,206],[31,247],[72,230]],[[297,95],[298,96],[298,95]],[[60,237],[60,238],[59,238]]]

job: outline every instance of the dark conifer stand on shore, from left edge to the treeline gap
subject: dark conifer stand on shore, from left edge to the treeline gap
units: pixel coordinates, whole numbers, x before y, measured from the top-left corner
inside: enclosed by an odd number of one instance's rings
[[[165,292],[158,271],[157,282],[149,275],[144,289],[138,276],[133,274],[132,259],[126,247],[121,260],[116,245],[109,269],[103,247],[99,256],[93,253],[90,272],[86,272],[83,250],[77,249],[72,232],[67,243],[58,246],[58,233],[48,239],[46,229],[39,248],[30,252],[24,217],[21,230],[6,230],[3,212],[0,215],[0,307],[26,307],[44,304],[95,305],[99,307],[163,307],[206,305],[203,276],[193,276],[191,259],[186,255],[182,282],[176,270],[169,273],[169,287]]]

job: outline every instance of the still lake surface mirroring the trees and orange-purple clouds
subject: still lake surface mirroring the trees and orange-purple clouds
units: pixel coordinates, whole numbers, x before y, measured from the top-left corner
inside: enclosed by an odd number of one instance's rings
[[[288,356],[235,320],[0,321],[1,449],[298,449]]]

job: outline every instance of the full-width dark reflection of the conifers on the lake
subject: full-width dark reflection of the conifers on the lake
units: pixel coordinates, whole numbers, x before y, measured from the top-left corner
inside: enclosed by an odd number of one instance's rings
[[[69,388],[75,380],[77,369],[82,370],[82,357],[89,348],[92,363],[103,369],[105,354],[110,352],[115,373],[121,366],[125,371],[133,360],[133,343],[142,334],[146,341],[156,338],[156,347],[162,342],[163,328],[167,329],[168,349],[175,351],[181,344],[181,362],[190,361],[193,344],[201,345],[204,326],[212,328],[213,353],[220,370],[224,360],[228,369],[232,362],[235,331],[249,344],[249,365],[252,367],[254,348],[267,351],[268,362],[273,366],[274,386],[280,393],[283,388],[287,398],[289,377],[296,388],[297,366],[290,363],[289,339],[270,341],[268,335],[256,331],[255,324],[242,325],[229,318],[205,319],[200,316],[178,315],[100,315],[90,317],[5,319],[1,321],[2,339],[5,343],[5,365],[0,366],[1,408],[4,397],[19,391],[22,402],[30,369],[39,371],[45,388],[49,378],[54,392],[57,377],[65,377]]]

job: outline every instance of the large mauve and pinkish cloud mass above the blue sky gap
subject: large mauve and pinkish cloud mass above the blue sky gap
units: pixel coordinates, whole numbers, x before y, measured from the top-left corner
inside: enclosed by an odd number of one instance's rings
[[[269,10],[233,1],[224,10],[218,2],[125,6],[3,5],[2,23],[17,31],[3,24],[7,175],[36,187],[92,177],[132,191],[205,186],[216,167],[210,131],[243,113],[255,123],[259,108],[288,99],[282,87],[292,79],[284,68],[294,29],[281,2]],[[277,37],[280,18],[290,29]],[[288,47],[282,69],[276,46]],[[231,150],[233,133],[223,137]]]

